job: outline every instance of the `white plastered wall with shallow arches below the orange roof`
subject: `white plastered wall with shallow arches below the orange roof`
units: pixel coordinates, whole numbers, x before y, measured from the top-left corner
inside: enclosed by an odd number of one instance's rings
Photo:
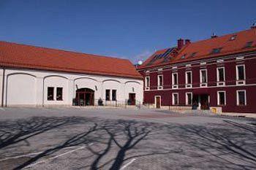
[[[94,98],[105,99],[105,89],[117,90],[117,100],[126,101],[129,93],[136,93],[136,100],[143,101],[143,81],[124,78],[97,76],[90,74],[69,74],[26,69],[6,69],[8,80],[5,82],[4,104],[9,106],[30,105],[72,105],[77,88],[94,90]],[[0,72],[1,81],[1,72]],[[1,86],[0,86],[1,87]],[[63,101],[48,101],[47,88],[63,88]],[[134,92],[132,91],[134,88]],[[1,88],[2,89],[2,88]],[[112,92],[112,91],[111,91]],[[19,94],[19,95],[18,95]],[[111,98],[110,94],[110,98]]]

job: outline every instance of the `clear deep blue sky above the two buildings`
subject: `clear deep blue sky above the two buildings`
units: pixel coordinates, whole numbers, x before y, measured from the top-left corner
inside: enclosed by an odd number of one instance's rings
[[[197,41],[256,22],[255,0],[0,0],[0,40],[145,59],[178,38]]]

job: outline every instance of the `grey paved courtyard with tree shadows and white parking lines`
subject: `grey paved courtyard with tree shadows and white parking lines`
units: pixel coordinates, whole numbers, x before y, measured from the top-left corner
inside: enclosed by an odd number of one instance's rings
[[[0,169],[256,169],[256,120],[0,108]]]

